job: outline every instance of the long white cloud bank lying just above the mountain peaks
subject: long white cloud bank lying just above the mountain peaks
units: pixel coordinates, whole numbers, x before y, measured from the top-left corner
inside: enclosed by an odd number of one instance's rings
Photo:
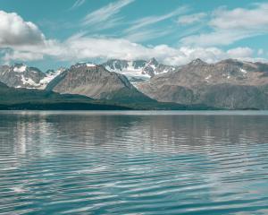
[[[89,37],[72,37],[66,40],[59,52],[58,58],[62,60],[90,60],[101,58],[111,59],[149,59],[155,57],[164,64],[187,64],[188,62],[201,58],[205,62],[214,63],[226,58],[237,58],[240,60],[252,60],[253,50],[249,47],[238,47],[223,51],[217,47],[169,47],[158,45],[146,47],[138,43],[130,42],[128,39],[99,39]],[[56,56],[56,55],[55,55]]]

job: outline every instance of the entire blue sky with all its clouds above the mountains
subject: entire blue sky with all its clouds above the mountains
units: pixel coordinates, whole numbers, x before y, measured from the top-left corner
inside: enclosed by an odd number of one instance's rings
[[[268,61],[268,0],[0,0],[0,63]]]

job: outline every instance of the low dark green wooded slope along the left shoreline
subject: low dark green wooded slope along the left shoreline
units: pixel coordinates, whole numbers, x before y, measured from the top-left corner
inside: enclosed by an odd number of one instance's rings
[[[0,82],[0,109],[121,110],[130,109],[130,107],[109,105],[80,95],[11,88]]]

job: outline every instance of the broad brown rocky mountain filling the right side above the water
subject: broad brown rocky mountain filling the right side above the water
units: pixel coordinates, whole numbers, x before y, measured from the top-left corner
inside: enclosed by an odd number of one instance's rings
[[[152,99],[224,108],[268,108],[268,64],[197,59],[138,84]]]

